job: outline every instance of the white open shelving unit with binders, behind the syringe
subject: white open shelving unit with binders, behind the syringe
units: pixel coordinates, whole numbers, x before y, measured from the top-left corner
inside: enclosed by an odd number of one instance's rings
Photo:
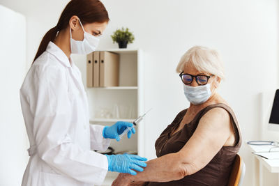
[[[90,123],[113,125],[117,121],[133,122],[144,114],[142,51],[140,49],[103,49],[119,54],[119,86],[86,88],[89,97]],[[119,114],[116,114],[117,109]],[[117,116],[118,115],[118,116]],[[117,116],[117,117],[116,117]],[[115,153],[136,152],[144,156],[144,121],[135,127],[130,139],[112,140]],[[118,173],[108,173],[103,185],[111,185]]]

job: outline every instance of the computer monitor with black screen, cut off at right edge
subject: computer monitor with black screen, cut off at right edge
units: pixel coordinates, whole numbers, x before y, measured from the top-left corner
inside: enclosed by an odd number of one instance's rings
[[[271,115],[269,118],[269,130],[279,131],[279,89],[276,90]]]

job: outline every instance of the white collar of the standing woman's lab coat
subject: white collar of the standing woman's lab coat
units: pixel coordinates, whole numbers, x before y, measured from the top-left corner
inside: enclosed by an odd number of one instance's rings
[[[63,65],[66,65],[67,67],[71,67],[70,64],[73,64],[73,60],[70,57],[70,61],[68,59],[68,56],[53,42],[49,42],[47,45],[47,52],[50,52],[50,54],[56,56],[56,58],[63,63]]]

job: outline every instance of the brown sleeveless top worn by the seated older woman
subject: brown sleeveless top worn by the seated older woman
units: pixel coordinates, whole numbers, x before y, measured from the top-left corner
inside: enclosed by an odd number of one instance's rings
[[[156,147],[156,155],[157,157],[166,155],[168,153],[176,153],[187,143],[187,141],[192,137],[195,132],[197,125],[199,124],[200,118],[206,114],[207,111],[221,107],[225,109],[232,120],[232,124],[234,127],[234,136],[235,136],[235,144],[234,146],[223,146],[220,151],[213,157],[211,162],[207,164],[203,169],[197,171],[196,173],[186,176],[181,180],[174,180],[167,183],[148,183],[149,186],[179,186],[179,185],[187,185],[187,186],[199,186],[199,185],[213,185],[213,186],[225,186],[229,180],[229,175],[232,170],[232,164],[234,163],[234,158],[236,157],[236,153],[239,152],[239,148],[241,146],[241,132],[239,130],[239,124],[237,123],[236,116],[234,115],[234,111],[226,104],[212,104],[208,107],[205,107],[195,116],[193,121],[183,126],[183,129],[178,132],[172,134],[177,127],[179,127],[179,123],[181,123],[183,116],[186,114],[187,109],[181,111],[174,121],[167,126],[167,128],[160,134],[160,137],[157,139],[155,147]],[[172,134],[172,136],[171,136]]]

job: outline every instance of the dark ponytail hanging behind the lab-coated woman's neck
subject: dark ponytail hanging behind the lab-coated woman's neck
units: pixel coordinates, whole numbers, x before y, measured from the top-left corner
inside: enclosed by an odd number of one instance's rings
[[[56,33],[57,33],[56,26],[53,27],[52,29],[50,29],[49,31],[47,31],[47,33],[45,33],[43,40],[40,42],[40,46],[38,48],[34,61],[38,58],[38,56],[40,56],[40,54],[43,54],[43,52],[45,52],[45,50],[47,49],[48,43],[50,41],[52,41],[52,42],[54,41],[54,39],[56,37]],[[33,63],[34,63],[34,61],[33,61]]]

